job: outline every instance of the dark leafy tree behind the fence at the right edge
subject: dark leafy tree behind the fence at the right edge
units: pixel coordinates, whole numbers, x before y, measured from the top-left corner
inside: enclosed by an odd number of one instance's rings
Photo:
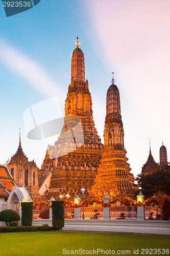
[[[170,166],[159,170],[156,173],[143,175],[136,178],[138,186],[145,197],[151,197],[158,191],[170,195]]]

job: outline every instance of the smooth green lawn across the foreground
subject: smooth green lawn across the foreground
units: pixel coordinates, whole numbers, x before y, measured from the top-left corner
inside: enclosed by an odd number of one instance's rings
[[[112,250],[115,251],[115,254],[119,255],[135,255],[134,249],[139,249],[139,251],[136,251],[137,255],[168,255],[168,250],[164,251],[162,249],[169,249],[169,245],[170,236],[149,234],[68,231],[0,233],[0,254],[5,256],[68,255],[68,253],[70,255],[112,255]],[[150,251],[142,251],[142,248],[150,249]],[[161,250],[152,251],[154,248]],[[94,251],[92,251],[93,249]],[[104,254],[104,251],[102,253],[96,249],[107,251]],[[79,251],[75,252],[71,250]],[[111,250],[110,253],[109,250]]]

